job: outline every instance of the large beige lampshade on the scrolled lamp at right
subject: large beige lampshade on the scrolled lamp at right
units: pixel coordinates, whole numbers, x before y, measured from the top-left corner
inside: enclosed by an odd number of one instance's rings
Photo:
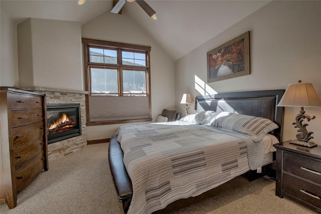
[[[298,83],[288,85],[277,106],[321,107],[321,101],[311,83]]]

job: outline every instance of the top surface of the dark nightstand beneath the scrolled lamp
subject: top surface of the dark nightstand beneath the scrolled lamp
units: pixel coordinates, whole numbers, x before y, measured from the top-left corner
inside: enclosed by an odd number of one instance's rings
[[[273,146],[277,149],[287,150],[287,151],[299,153],[302,155],[321,159],[321,145],[317,145],[316,147],[313,147],[313,148],[308,148],[304,146],[291,144],[290,141],[288,140],[288,141],[274,144]]]

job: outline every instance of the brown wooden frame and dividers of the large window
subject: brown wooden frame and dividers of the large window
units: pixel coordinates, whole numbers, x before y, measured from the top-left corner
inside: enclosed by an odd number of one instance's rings
[[[133,123],[133,122],[150,122],[151,118],[151,87],[150,87],[150,47],[148,46],[141,46],[141,45],[132,45],[132,44],[125,44],[125,43],[117,43],[117,42],[109,42],[109,41],[102,41],[102,40],[93,40],[93,39],[86,39],[82,38],[83,43],[83,59],[84,59],[84,76],[85,76],[85,90],[88,91],[88,95],[86,95],[86,120],[87,126],[95,126],[95,125],[107,125],[107,124],[121,124],[121,123]],[[101,64],[101,63],[91,63],[89,62],[89,48],[100,48],[100,49],[113,49],[117,50],[117,64]],[[129,51],[135,53],[144,53],[145,54],[145,62],[146,66],[129,66],[129,65],[122,65],[122,51]],[[90,96],[103,96],[103,95],[92,95],[91,94],[91,80],[90,80],[90,67],[102,67],[105,65],[106,68],[115,68],[117,69],[118,74],[118,93],[119,96],[123,96],[123,86],[122,86],[122,70],[137,70],[137,71],[145,71],[145,84],[146,84],[146,94],[145,96],[148,97],[148,118],[145,119],[126,119],[126,120],[108,120],[108,121],[97,121],[97,122],[90,122],[90,109],[89,109],[89,97]],[[107,95],[108,96],[108,95]],[[110,95],[109,95],[110,96]],[[123,97],[127,97],[126,94]],[[103,96],[104,97],[104,96]]]

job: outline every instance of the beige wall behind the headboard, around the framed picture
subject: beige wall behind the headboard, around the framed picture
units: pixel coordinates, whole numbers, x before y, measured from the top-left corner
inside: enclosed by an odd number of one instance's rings
[[[183,93],[203,93],[196,89],[199,87],[195,82],[213,93],[286,89],[288,84],[302,80],[312,83],[321,98],[320,11],[319,1],[273,1],[176,61],[177,109],[184,110],[184,105],[179,104]],[[206,53],[246,31],[250,31],[251,74],[206,84]],[[321,108],[304,109],[316,116],[308,122],[307,129],[314,132],[314,142],[321,145]],[[292,122],[299,110],[285,108],[283,140],[295,138]]]

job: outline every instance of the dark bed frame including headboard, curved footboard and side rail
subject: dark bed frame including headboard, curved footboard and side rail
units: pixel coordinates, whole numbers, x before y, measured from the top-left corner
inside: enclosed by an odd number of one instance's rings
[[[198,96],[195,99],[195,110],[197,112],[204,110],[213,110],[217,112],[228,111],[268,118],[279,126],[279,128],[275,129],[271,134],[276,136],[281,142],[284,108],[277,107],[277,104],[283,93],[284,90],[264,90]],[[123,152],[120,148],[119,142],[117,141],[117,135],[111,137],[108,152],[109,167],[118,194],[118,199],[122,203],[124,213],[127,213],[132,197],[132,185],[123,164]],[[273,160],[275,160],[275,154],[273,155]],[[173,210],[180,209],[206,198],[215,196],[221,192],[239,187],[264,175],[275,177],[274,162],[263,166],[262,173],[257,173],[256,170],[250,170],[215,187],[214,189],[206,191],[195,197],[179,199],[170,203],[164,209],[157,210],[153,213],[168,213]]]

